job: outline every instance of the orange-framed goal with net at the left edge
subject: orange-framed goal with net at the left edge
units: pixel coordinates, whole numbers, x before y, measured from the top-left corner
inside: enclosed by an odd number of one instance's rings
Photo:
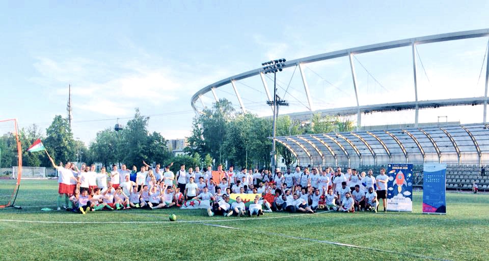
[[[17,167],[15,178],[14,167]],[[21,177],[22,148],[17,120],[0,120],[0,208],[14,205]]]

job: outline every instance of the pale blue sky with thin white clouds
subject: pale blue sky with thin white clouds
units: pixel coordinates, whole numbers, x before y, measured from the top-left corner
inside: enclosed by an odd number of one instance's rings
[[[0,1],[0,119],[45,133],[66,116],[71,85],[72,131],[86,144],[126,124],[134,108],[150,116],[149,131],[184,138],[195,92],[263,61],[488,28],[487,10],[488,1]],[[487,38],[418,46],[419,100],[483,96],[486,47]],[[360,104],[414,101],[411,55],[410,47],[355,55]],[[347,58],[306,64],[305,74],[315,109],[356,104]],[[281,113],[307,110],[298,70],[277,78],[290,103]],[[236,86],[249,112],[271,114],[259,77]],[[239,110],[231,86],[216,92]],[[482,107],[421,110],[420,122],[438,116],[481,122]],[[414,111],[362,118],[411,122]]]

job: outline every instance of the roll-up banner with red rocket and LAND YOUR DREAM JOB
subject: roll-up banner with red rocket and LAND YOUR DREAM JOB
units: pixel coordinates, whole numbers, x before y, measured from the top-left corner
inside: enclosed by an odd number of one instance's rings
[[[387,211],[413,211],[413,165],[387,165]]]

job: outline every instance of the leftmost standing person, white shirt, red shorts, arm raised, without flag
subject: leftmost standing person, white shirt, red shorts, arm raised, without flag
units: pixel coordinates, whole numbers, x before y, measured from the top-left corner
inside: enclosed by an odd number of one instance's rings
[[[65,167],[63,166],[57,166],[55,164],[55,161],[50,157],[49,160],[51,161],[52,167],[58,170],[59,173],[59,178],[58,178],[58,210],[61,210],[61,204],[63,197],[65,197],[65,204],[64,207],[68,206],[68,209],[72,208],[72,203],[69,200],[71,195],[73,195],[76,185],[71,184],[71,181],[76,181],[77,179],[74,176],[74,173],[78,172],[78,168],[72,164],[71,162],[66,162]],[[76,184],[75,182],[75,184]]]

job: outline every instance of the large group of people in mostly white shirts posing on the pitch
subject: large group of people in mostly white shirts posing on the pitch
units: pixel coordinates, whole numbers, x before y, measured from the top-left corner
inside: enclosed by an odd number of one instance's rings
[[[211,166],[201,171],[198,166],[194,169],[181,165],[173,173],[170,170],[173,163],[161,169],[159,164],[151,167],[143,161],[139,170],[135,166],[129,170],[122,164],[121,169],[113,165],[110,172],[104,167],[96,172],[95,165],[82,165],[78,169],[71,162],[57,166],[50,160],[59,173],[58,210],[64,207],[83,214],[181,207],[185,201],[194,199],[210,202],[209,216],[260,216],[272,211],[377,212],[381,199],[384,211],[387,207],[385,169],[374,177],[372,170],[360,173],[347,168],[343,173],[340,167],[334,171],[331,167],[296,166],[282,173],[279,169],[235,171],[232,166],[225,171],[219,165],[213,173]],[[231,194],[238,195],[231,199]],[[245,204],[239,194],[255,194],[255,197]]]

